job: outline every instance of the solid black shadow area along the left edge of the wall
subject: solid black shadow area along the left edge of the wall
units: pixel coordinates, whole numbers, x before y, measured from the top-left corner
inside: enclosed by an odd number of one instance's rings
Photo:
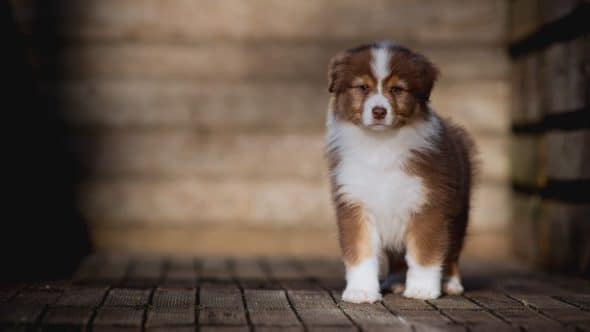
[[[64,277],[90,251],[75,192],[84,172],[73,153],[59,98],[40,90],[43,81],[57,77],[57,66],[38,66],[31,57],[59,58],[57,18],[52,15],[57,3],[34,2],[31,38],[19,30],[9,2],[0,4],[5,41],[0,77],[9,151],[9,199],[0,241],[3,282]]]

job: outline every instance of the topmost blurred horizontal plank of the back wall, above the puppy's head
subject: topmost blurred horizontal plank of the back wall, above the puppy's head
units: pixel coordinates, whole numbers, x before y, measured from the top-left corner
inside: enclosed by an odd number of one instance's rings
[[[500,43],[505,4],[446,0],[334,3],[256,0],[61,0],[55,12],[66,38],[101,41],[383,39]],[[425,5],[429,10],[425,10]],[[26,21],[26,2],[17,12]],[[29,7],[30,8],[30,7]],[[272,15],[269,15],[272,13]],[[362,26],[362,29],[358,27]]]

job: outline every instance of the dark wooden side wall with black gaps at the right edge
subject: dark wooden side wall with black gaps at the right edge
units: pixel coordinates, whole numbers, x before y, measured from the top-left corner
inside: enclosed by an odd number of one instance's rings
[[[531,265],[590,273],[590,3],[512,1],[514,244]]]

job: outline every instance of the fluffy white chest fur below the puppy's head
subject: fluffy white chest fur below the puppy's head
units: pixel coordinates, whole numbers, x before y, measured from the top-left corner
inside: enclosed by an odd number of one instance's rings
[[[328,117],[327,144],[339,157],[331,176],[346,199],[360,202],[381,248],[400,249],[411,215],[426,202],[426,188],[405,165],[412,150],[431,149],[436,118],[395,132],[375,132]]]

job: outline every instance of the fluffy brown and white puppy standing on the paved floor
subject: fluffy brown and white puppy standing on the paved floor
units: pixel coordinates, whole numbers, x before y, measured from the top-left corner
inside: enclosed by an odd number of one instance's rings
[[[429,107],[437,75],[424,56],[391,43],[347,50],[330,63],[327,155],[345,301],[381,299],[382,253],[390,269],[407,268],[406,297],[437,298],[443,282],[446,293],[463,291],[458,260],[474,145]]]

